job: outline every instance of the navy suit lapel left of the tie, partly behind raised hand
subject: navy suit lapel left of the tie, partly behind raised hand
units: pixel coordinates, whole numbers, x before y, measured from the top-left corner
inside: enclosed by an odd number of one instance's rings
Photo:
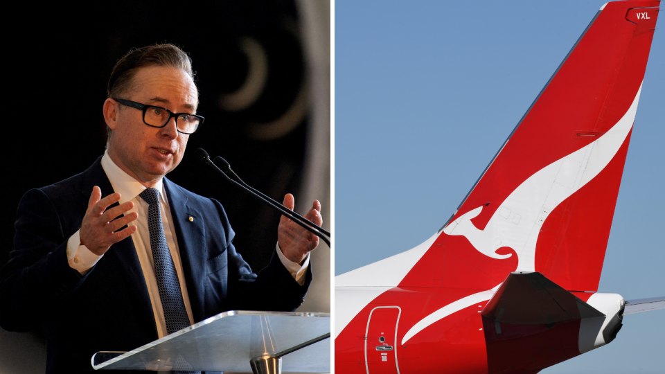
[[[95,161],[93,166],[86,170],[83,178],[81,193],[86,208],[94,186],[98,186],[102,190],[102,197],[115,192],[100,161],[101,157]],[[113,204],[112,206],[117,205],[118,203]],[[150,303],[148,286],[145,284],[145,278],[143,277],[143,271],[141,270],[141,263],[139,262],[139,256],[136,255],[136,247],[134,247],[132,237],[130,236],[121,242],[113,244],[100,261],[103,260],[115,262],[114,267],[112,268],[123,271],[123,279],[126,283],[125,290],[128,290],[132,298],[135,300],[141,313],[151,321],[155,336],[157,336],[157,326],[154,321],[154,313],[152,312],[152,303]]]

